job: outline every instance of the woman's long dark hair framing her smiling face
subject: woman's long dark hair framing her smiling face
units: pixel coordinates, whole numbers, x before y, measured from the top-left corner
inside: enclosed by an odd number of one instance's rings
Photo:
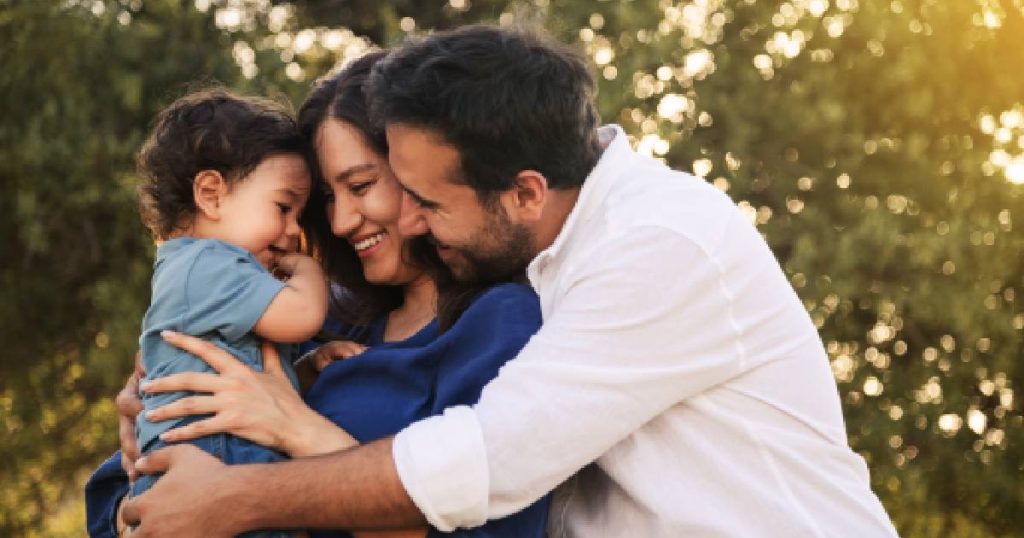
[[[387,155],[384,131],[375,129],[370,121],[364,86],[375,64],[387,51],[370,52],[349,64],[345,69],[316,82],[305,102],[299,109],[299,130],[315,143],[317,132],[328,118],[334,118],[355,127],[369,146],[380,155]],[[318,169],[313,171],[314,184],[302,215],[306,241],[323,263],[328,277],[344,293],[332,300],[332,316],[351,325],[366,325],[401,304],[400,286],[384,286],[367,282],[355,249],[348,242],[334,236],[327,215],[324,178]],[[410,262],[423,267],[437,285],[437,319],[440,329],[450,328],[482,291],[482,286],[463,285],[437,257],[437,251],[425,238],[410,240]]]

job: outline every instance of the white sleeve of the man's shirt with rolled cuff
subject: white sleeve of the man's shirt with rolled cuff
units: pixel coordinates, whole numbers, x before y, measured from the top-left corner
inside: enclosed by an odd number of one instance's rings
[[[397,436],[398,473],[432,525],[515,512],[742,371],[727,268],[713,253],[659,226],[602,243],[562,270],[564,292],[544,326],[477,405]],[[452,477],[458,490],[444,486]]]

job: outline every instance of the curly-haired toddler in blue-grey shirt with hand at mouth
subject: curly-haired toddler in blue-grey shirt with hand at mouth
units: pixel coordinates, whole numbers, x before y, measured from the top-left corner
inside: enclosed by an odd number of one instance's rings
[[[139,338],[146,379],[212,371],[161,338],[161,331],[174,330],[205,338],[259,371],[260,343],[271,340],[295,382],[294,344],[313,336],[327,313],[324,273],[296,252],[309,162],[294,120],[269,100],[204,90],[160,113],[138,157],[145,176],[139,189],[142,219],[160,242]],[[185,396],[140,395],[146,411]],[[162,432],[202,418],[151,422],[140,414],[138,446],[150,453],[164,446]],[[225,463],[284,458],[223,433],[191,443]],[[156,480],[141,477],[132,494]]]

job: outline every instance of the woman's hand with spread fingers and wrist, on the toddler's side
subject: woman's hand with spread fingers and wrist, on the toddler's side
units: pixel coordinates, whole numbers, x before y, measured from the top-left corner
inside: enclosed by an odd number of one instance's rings
[[[204,392],[150,411],[153,421],[212,414],[165,431],[165,442],[187,441],[210,433],[230,433],[292,457],[334,452],[358,445],[351,436],[309,409],[292,387],[273,344],[264,342],[263,372],[256,372],[211,342],[174,332],[163,333],[171,345],[209,364],[220,375],[182,372],[154,379],[150,394]]]

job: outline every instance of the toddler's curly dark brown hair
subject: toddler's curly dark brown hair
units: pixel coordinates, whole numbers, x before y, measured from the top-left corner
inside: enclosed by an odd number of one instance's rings
[[[216,170],[230,183],[281,154],[311,164],[309,144],[284,106],[223,88],[184,95],[157,115],[136,159],[145,178],[138,188],[142,222],[157,239],[169,239],[196,215],[199,172]]]

